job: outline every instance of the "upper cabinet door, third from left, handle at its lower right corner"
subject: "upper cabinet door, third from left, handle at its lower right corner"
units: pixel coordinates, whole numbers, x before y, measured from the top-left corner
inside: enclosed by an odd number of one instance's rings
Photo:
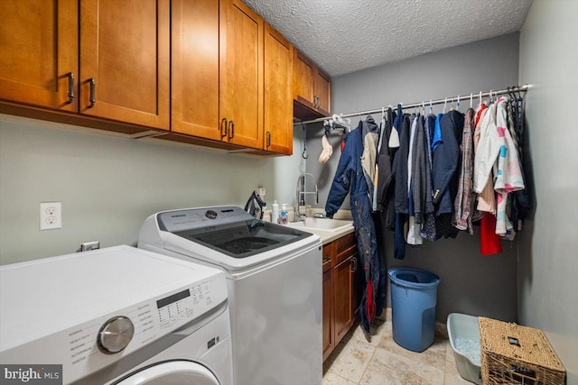
[[[219,2],[172,0],[171,12],[171,130],[219,141]]]

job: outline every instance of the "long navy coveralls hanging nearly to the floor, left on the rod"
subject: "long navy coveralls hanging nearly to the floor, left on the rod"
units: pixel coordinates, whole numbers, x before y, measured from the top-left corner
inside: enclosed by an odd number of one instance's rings
[[[363,153],[363,137],[361,130],[350,132],[344,139],[345,145],[331,189],[325,212],[328,218],[339,210],[348,193],[350,194],[351,215],[358,242],[359,263],[364,270],[364,290],[359,308],[359,316],[366,332],[375,316],[379,316],[385,301],[385,267],[378,255],[378,245],[375,225],[371,217],[371,203],[368,197],[361,155]]]

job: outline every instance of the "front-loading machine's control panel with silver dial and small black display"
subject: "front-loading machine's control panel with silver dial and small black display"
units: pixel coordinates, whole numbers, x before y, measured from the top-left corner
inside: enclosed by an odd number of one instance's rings
[[[173,285],[177,289],[44,336],[25,348],[16,346],[8,352],[15,363],[45,362],[50,356],[51,362],[46,363],[62,364],[67,383],[79,380],[194,322],[227,299],[227,284],[222,273],[191,282],[194,283],[180,288]],[[50,353],[46,350],[48,346]]]

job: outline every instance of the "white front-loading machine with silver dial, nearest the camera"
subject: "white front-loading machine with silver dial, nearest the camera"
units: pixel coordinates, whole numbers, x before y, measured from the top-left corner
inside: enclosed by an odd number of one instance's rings
[[[233,383],[220,270],[117,246],[0,266],[0,285],[1,383]]]

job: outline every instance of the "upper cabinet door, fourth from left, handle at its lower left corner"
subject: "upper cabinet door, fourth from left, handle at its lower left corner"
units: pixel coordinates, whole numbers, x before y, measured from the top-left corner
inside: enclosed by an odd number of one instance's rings
[[[263,19],[240,0],[221,0],[219,108],[227,140],[263,148]]]

